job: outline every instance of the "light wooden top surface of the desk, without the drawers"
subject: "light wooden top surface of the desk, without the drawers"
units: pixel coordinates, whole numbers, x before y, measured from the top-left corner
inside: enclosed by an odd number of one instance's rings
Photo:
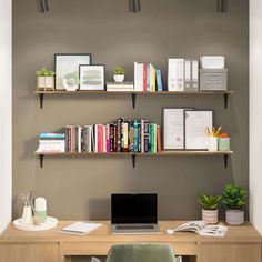
[[[0,235],[0,243],[8,242],[163,242],[163,243],[214,243],[214,242],[234,242],[234,243],[261,243],[261,235],[254,230],[254,228],[245,223],[241,226],[229,226],[228,233],[224,238],[211,238],[211,236],[200,236],[191,232],[175,232],[173,235],[168,235],[165,233],[167,229],[173,229],[181,225],[185,221],[161,221],[159,226],[161,234],[159,235],[112,235],[110,233],[109,221],[98,221],[104,224],[95,231],[90,232],[88,235],[70,235],[58,233],[57,231],[64,228],[66,225],[72,223],[73,221],[60,221],[58,226],[52,230],[43,232],[26,232],[16,230],[11,223],[8,229]]]

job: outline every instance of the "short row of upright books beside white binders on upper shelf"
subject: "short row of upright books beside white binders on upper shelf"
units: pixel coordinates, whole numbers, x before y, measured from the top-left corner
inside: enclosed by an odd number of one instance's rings
[[[134,62],[134,91],[163,91],[161,70],[155,69],[152,63]]]

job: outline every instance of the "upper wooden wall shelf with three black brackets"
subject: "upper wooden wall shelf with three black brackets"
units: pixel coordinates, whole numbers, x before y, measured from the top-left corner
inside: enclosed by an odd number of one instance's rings
[[[132,107],[135,108],[137,95],[215,95],[215,94],[223,94],[224,97],[224,108],[228,108],[228,100],[229,95],[233,93],[233,91],[200,91],[200,92],[172,92],[172,91],[162,91],[162,92],[139,92],[139,91],[34,91],[36,94],[39,94],[40,108],[43,107],[43,98],[44,95],[88,95],[88,94],[102,94],[102,95],[110,95],[110,94],[131,94],[132,98]]]

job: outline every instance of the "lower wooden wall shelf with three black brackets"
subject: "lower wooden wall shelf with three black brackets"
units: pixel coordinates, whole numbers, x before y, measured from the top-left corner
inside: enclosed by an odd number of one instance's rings
[[[206,155],[206,157],[223,157],[224,158],[224,167],[228,168],[229,162],[229,155],[233,154],[233,151],[216,151],[216,152],[210,152],[210,151],[191,151],[191,150],[180,150],[180,151],[161,151],[158,153],[139,153],[139,152],[110,152],[110,153],[94,153],[94,152],[34,152],[36,155],[39,157],[40,160],[40,167],[43,167],[43,157],[92,157],[92,155],[121,155],[121,157],[132,157],[132,165],[135,168],[135,159],[137,155]]]

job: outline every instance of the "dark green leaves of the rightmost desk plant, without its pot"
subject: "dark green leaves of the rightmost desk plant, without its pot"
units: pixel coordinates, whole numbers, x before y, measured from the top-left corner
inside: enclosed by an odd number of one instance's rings
[[[222,204],[230,210],[242,210],[246,204],[248,191],[243,187],[226,184],[222,195]]]

